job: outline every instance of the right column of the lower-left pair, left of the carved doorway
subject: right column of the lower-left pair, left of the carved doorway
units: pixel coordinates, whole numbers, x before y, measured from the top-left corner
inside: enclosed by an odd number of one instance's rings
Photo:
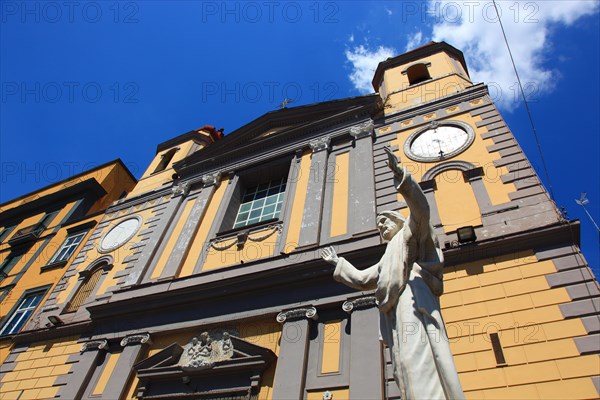
[[[119,357],[119,362],[110,375],[102,397],[106,399],[120,399],[124,395],[127,383],[133,373],[133,365],[138,361],[142,351],[149,345],[149,333],[129,335],[121,340],[123,351]]]

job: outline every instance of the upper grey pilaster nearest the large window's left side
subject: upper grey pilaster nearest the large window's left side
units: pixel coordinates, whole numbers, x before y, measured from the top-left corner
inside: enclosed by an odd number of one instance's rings
[[[190,243],[198,231],[200,221],[206,211],[206,205],[212,198],[216,188],[219,186],[219,177],[220,175],[202,177],[202,182],[204,183],[205,187],[202,189],[200,195],[198,195],[194,205],[192,206],[190,215],[185,222],[181,234],[177,238],[175,247],[173,248],[169,259],[167,260],[167,265],[161,273],[160,279],[174,277],[179,273],[181,262],[189,251]]]

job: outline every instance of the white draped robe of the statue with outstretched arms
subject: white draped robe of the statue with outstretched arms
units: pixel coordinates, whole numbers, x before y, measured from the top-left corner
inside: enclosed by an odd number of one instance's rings
[[[444,258],[429,206],[406,170],[396,189],[410,216],[381,260],[361,271],[340,257],[334,278],[355,289],[376,290],[381,335],[390,347],[402,399],[462,399],[440,313]]]

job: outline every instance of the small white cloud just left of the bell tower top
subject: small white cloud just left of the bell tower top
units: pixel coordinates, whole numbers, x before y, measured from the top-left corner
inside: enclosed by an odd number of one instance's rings
[[[397,54],[390,47],[379,46],[376,50],[369,50],[360,45],[346,50],[346,59],[352,63],[352,72],[348,76],[354,87],[361,93],[372,93],[371,80],[377,65]]]

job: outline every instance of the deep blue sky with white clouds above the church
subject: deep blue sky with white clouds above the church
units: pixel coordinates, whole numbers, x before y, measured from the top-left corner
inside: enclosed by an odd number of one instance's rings
[[[498,2],[559,206],[598,275],[597,1]],[[497,23],[481,2],[0,2],[0,202],[204,124],[367,93],[380,59],[432,39],[465,52],[542,179]]]

